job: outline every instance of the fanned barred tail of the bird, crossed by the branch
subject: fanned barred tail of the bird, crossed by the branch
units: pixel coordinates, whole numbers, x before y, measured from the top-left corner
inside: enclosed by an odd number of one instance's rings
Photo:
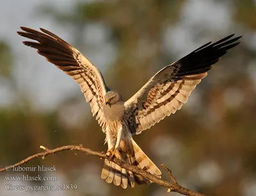
[[[143,153],[133,139],[128,142],[121,142],[120,149],[115,153],[115,156],[125,163],[136,165],[138,168],[146,170],[147,172],[161,178],[161,171],[150,160],[150,158]],[[121,168],[119,165],[116,165],[116,163],[110,162],[107,159],[104,160],[101,178],[106,179],[107,183],[114,183],[116,186],[121,185],[122,188],[127,188],[128,185],[133,188],[135,183],[138,185],[147,185],[152,183],[143,176]]]

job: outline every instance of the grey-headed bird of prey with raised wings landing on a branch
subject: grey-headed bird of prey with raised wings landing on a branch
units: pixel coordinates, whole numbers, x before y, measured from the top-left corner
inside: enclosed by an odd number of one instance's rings
[[[83,54],[62,40],[56,34],[40,28],[40,31],[20,27],[20,36],[35,41],[23,41],[24,45],[37,49],[38,54],[70,75],[81,87],[86,102],[92,107],[102,131],[106,133],[108,155],[116,156],[123,162],[136,165],[151,174],[161,177],[161,171],[132,139],[164,119],[186,103],[196,85],[204,79],[212,65],[239,42],[234,34],[215,43],[206,43],[190,54],[157,72],[129,100],[124,102],[122,95],[111,91],[104,82],[102,74]],[[232,39],[230,39],[232,38]],[[121,168],[113,162],[104,160],[101,174],[107,183],[116,186],[134,187],[149,184],[143,176]]]

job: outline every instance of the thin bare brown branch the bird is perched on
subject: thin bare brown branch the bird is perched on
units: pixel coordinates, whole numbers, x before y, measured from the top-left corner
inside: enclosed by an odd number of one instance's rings
[[[108,160],[111,160],[111,162],[116,163],[117,165],[119,165],[120,167],[122,167],[124,169],[130,170],[130,171],[134,172],[135,174],[140,174],[141,176],[149,179],[150,181],[156,183],[157,185],[164,186],[164,187],[168,188],[168,192],[177,192],[182,195],[189,195],[189,196],[205,196],[205,195],[202,195],[201,193],[193,192],[192,190],[189,190],[188,188],[184,188],[184,187],[180,186],[179,183],[177,183],[175,177],[172,176],[172,171],[170,169],[168,169],[166,166],[164,166],[163,164],[161,165],[161,167],[163,167],[163,169],[166,170],[166,172],[168,172],[173,183],[164,181],[163,179],[160,179],[160,178],[150,174],[149,172],[146,172],[145,170],[138,169],[138,167],[136,167],[136,166],[124,163],[124,162],[122,162],[122,160],[120,160],[116,157],[112,158],[111,156],[108,156],[103,152],[100,153],[97,151],[92,151],[91,149],[83,147],[82,144],[80,144],[80,146],[68,145],[68,146],[56,147],[55,149],[48,149],[47,147],[44,147],[44,146],[40,146],[40,148],[44,149],[44,152],[29,156],[28,158],[20,161],[19,163],[15,163],[14,165],[10,165],[8,167],[0,169],[0,172],[4,172],[6,170],[12,169],[13,167],[17,167],[19,165],[23,165],[24,163],[28,163],[29,160],[32,160],[36,157],[42,157],[44,159],[47,155],[58,153],[60,151],[67,151],[67,150],[74,151],[75,150],[75,151],[82,151],[82,152],[86,153],[87,155],[99,156],[101,159],[106,158]]]

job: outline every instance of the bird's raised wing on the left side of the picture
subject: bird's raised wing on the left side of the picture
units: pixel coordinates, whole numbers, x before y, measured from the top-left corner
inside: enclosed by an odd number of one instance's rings
[[[23,41],[24,45],[37,49],[38,54],[46,57],[47,61],[76,80],[86,102],[90,102],[93,116],[96,116],[105,132],[106,124],[102,107],[108,87],[100,71],[83,54],[56,34],[42,28],[40,30],[43,33],[28,27],[20,28],[23,30],[17,32],[20,36],[37,41]]]

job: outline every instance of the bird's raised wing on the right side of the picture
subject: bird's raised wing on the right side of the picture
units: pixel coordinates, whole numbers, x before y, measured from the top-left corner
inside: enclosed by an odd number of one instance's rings
[[[239,43],[229,40],[234,34],[215,43],[209,42],[179,61],[156,73],[147,84],[125,102],[125,116],[132,134],[139,134],[170,114],[179,110],[183,103],[227,50]]]

